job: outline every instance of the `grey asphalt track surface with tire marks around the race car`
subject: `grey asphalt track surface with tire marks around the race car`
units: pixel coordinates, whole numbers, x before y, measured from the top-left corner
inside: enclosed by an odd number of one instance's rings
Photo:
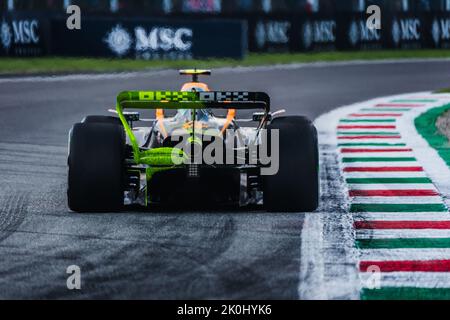
[[[273,109],[314,119],[377,96],[448,87],[449,70],[445,61],[222,70],[208,82],[267,91]],[[177,90],[182,82],[165,72],[0,83],[0,298],[299,297],[304,213],[67,209],[71,125],[104,114],[122,90]],[[340,200],[322,178],[322,210],[335,210]],[[80,291],[66,288],[70,265],[81,268]]]

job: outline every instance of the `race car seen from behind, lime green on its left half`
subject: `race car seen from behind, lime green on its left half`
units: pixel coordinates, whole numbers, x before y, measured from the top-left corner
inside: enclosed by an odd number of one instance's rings
[[[206,204],[316,210],[319,160],[312,122],[270,113],[270,98],[262,92],[210,91],[198,81],[209,70],[180,73],[193,78],[181,91],[122,92],[110,110],[116,116],[87,116],[72,127],[69,208],[106,212],[125,205]],[[152,109],[155,119],[142,118]],[[236,119],[237,111],[251,109],[261,111]]]

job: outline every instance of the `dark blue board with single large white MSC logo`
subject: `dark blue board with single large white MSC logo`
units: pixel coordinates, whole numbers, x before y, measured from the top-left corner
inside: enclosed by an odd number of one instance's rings
[[[69,30],[65,24],[64,18],[51,22],[55,55],[242,59],[247,52],[247,24],[241,20],[87,17],[81,30]]]

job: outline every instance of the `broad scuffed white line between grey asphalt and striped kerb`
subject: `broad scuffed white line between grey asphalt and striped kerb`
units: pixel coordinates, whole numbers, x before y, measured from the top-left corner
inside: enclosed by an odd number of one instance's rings
[[[339,110],[338,113],[342,113],[343,116],[345,110]],[[337,139],[334,130],[339,118],[325,115],[317,120],[321,162],[336,161]],[[334,160],[325,159],[326,157]],[[333,173],[339,179],[337,163],[332,167]],[[333,177],[334,179],[336,177]],[[327,181],[321,182],[325,186],[329,185]],[[344,185],[339,181],[335,184],[337,190],[331,188],[326,191],[341,192],[341,186]],[[345,192],[342,192],[342,195],[345,197]],[[333,208],[333,200],[330,199],[330,203],[322,203],[321,207]],[[300,299],[359,299],[360,283],[352,226],[352,215],[349,212],[327,211],[306,214],[302,230],[298,288]]]

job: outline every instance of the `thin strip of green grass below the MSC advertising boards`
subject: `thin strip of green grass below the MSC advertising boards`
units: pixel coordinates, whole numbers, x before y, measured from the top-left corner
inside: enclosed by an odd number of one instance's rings
[[[249,54],[244,60],[133,60],[99,58],[0,58],[0,75],[58,74],[79,72],[120,72],[154,68],[218,68],[319,61],[383,60],[411,58],[450,58],[450,50],[334,51],[312,53]]]

